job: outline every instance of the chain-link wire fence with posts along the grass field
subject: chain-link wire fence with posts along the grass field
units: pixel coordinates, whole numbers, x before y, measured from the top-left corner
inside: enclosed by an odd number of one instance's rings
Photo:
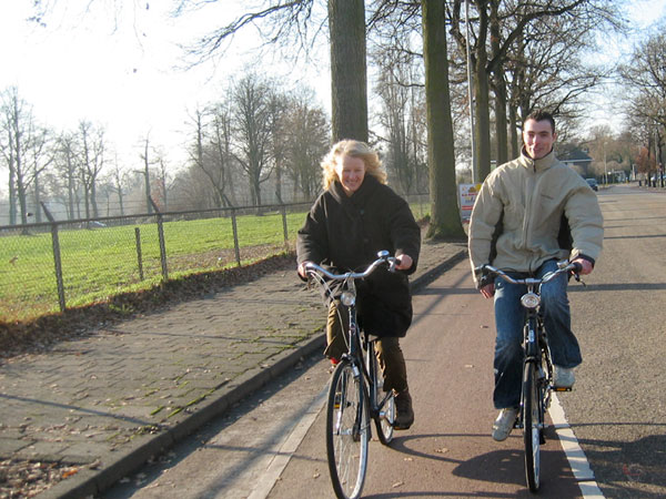
[[[414,216],[427,195],[410,196]],[[0,322],[293,249],[311,203],[0,226]]]

